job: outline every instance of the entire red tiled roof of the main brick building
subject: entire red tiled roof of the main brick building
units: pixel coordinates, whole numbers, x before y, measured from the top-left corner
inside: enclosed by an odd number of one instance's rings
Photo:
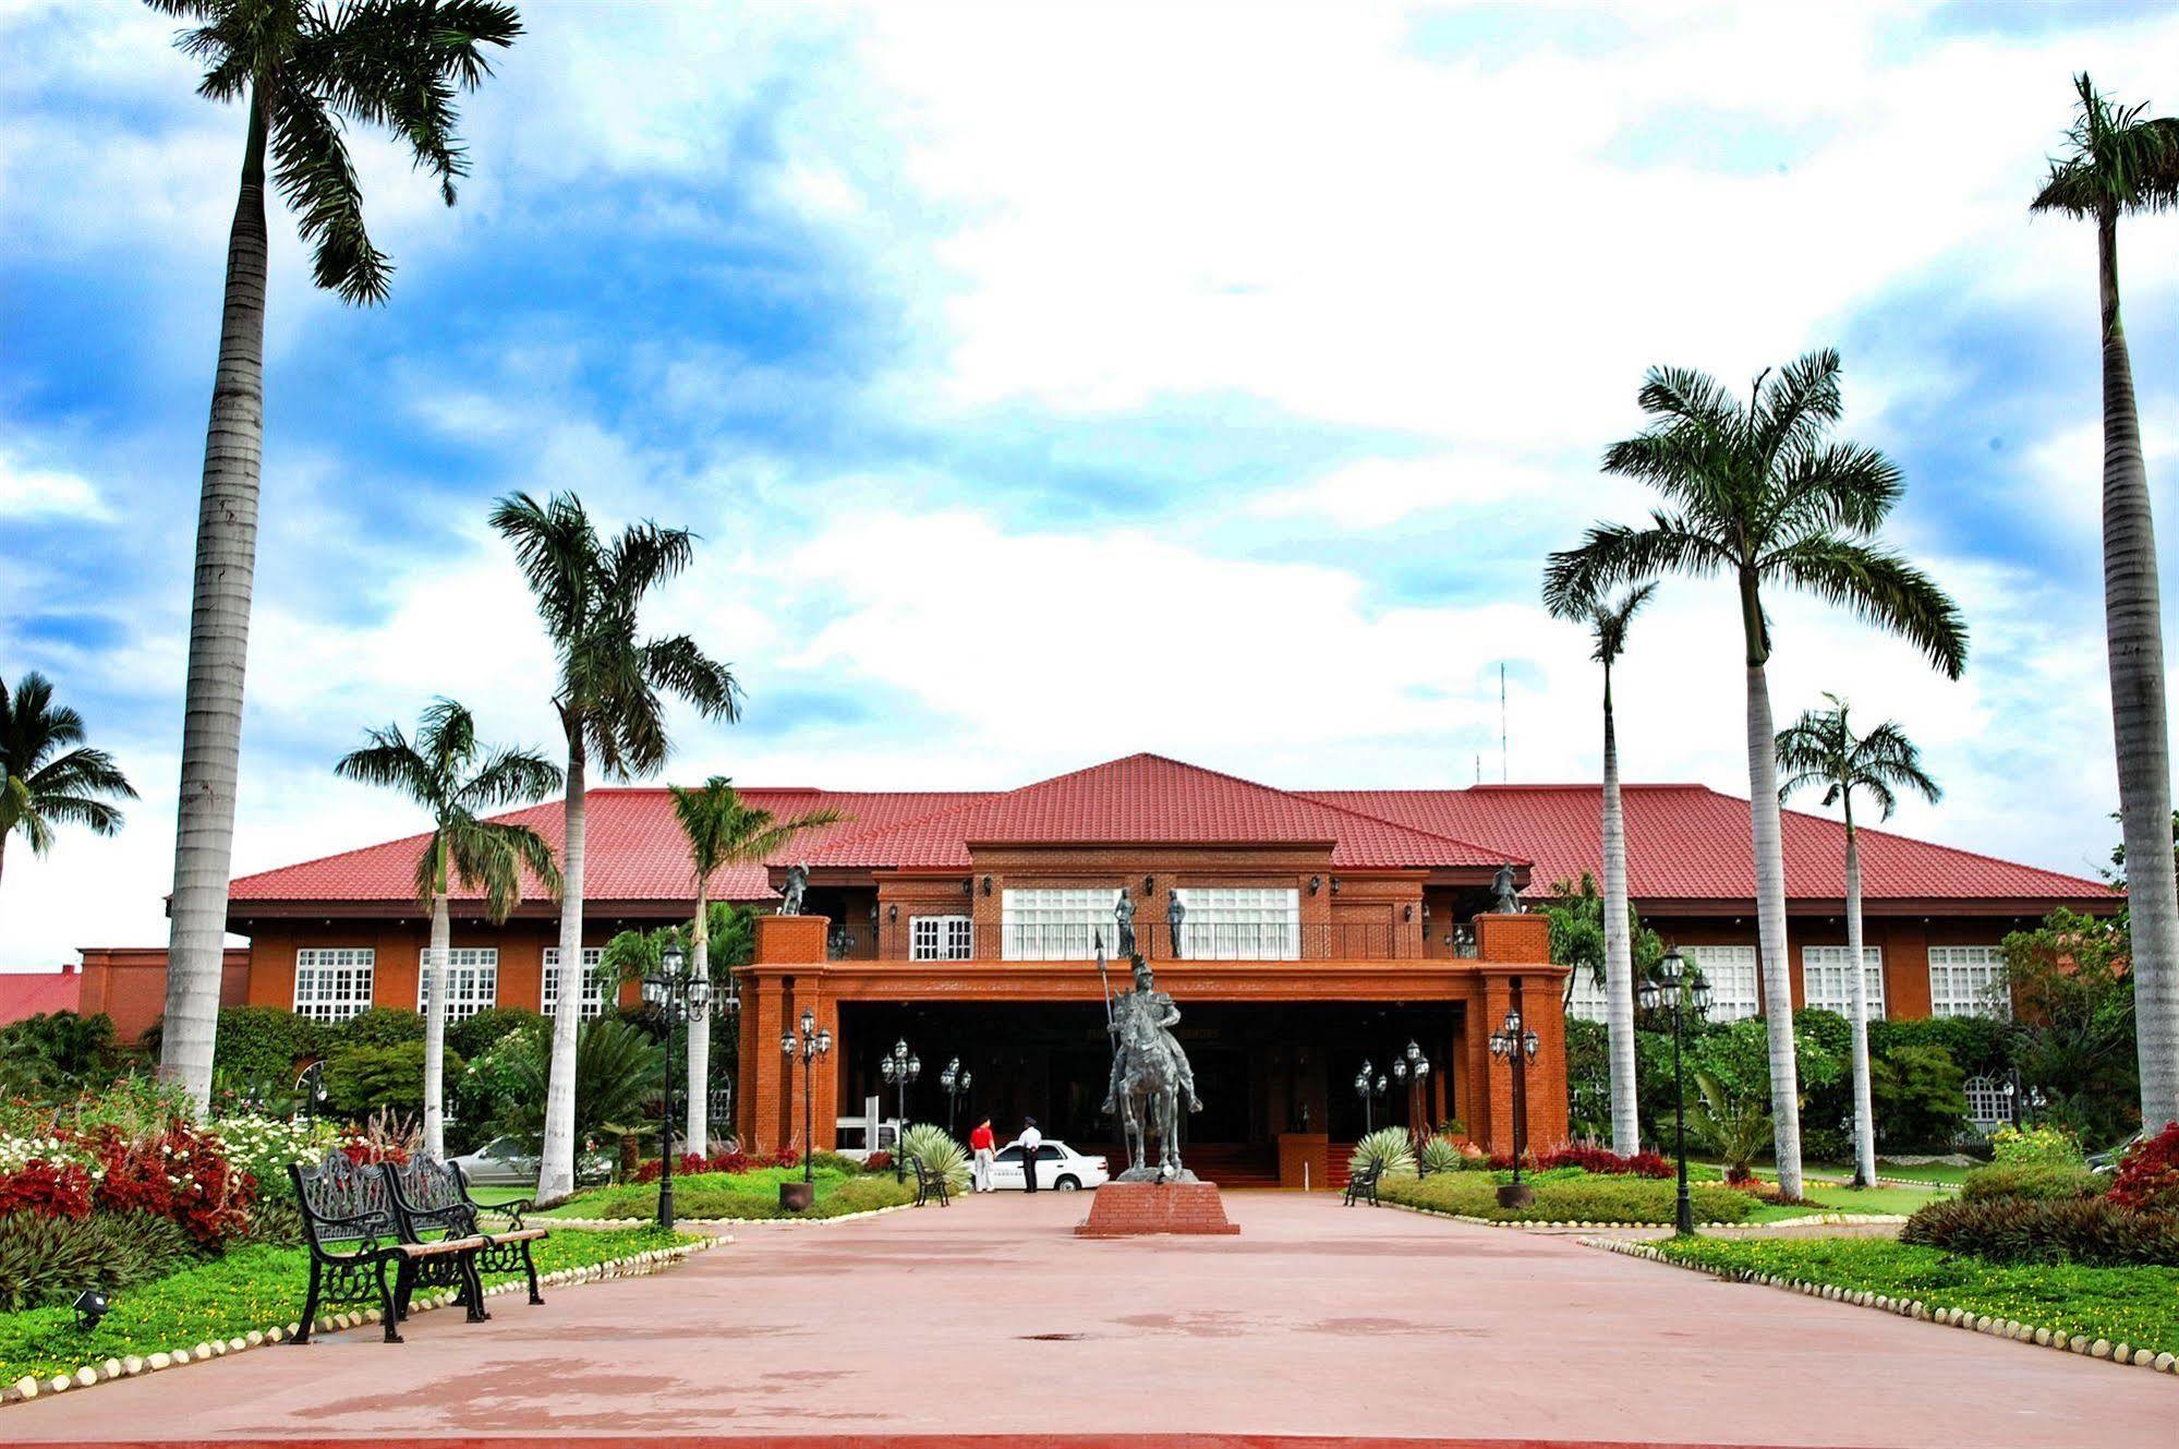
[[[1155,754],[1094,765],[1015,791],[747,789],[752,804],[793,815],[835,808],[769,865],[832,869],[967,869],[974,845],[1329,843],[1347,869],[1447,869],[1534,863],[1530,893],[1595,872],[1595,784],[1484,784],[1456,791],[1279,791]],[[1748,802],[1700,784],[1630,784],[1628,869],[1636,900],[1750,900]],[[560,804],[501,819],[560,845]],[[662,789],[588,795],[588,880],[597,902],[686,900],[689,852]],[[2096,900],[2103,882],[1883,830],[1861,832],[1870,900]],[[423,837],[242,876],[231,900],[407,902]],[[1837,900],[1843,828],[1785,815],[1787,893]],[[769,900],[763,865],[723,872],[726,900]]]

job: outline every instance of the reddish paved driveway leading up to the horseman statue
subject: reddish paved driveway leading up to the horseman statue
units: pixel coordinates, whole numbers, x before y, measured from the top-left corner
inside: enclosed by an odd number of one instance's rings
[[[1083,1242],[1074,1194],[750,1227],[667,1277],[37,1399],[0,1429],[2175,1442],[2168,1375],[1327,1194],[1227,1203],[1240,1238]]]

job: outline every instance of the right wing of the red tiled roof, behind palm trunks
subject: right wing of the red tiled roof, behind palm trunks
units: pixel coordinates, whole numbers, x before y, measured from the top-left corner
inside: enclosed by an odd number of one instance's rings
[[[1442,830],[1534,859],[1530,893],[1597,874],[1599,784],[1477,784],[1460,791],[1305,791],[1312,800]],[[1628,784],[1628,893],[1636,900],[1752,900],[1748,800],[1704,784]],[[2109,898],[2101,880],[1861,828],[1867,900],[2083,900]],[[1785,891],[1802,900],[1846,893],[1846,826],[1785,813]]]

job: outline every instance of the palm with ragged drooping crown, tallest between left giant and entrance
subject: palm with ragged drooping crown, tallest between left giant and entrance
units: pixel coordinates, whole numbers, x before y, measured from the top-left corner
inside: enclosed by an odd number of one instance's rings
[[[527,492],[499,499],[492,527],[512,545],[536,595],[560,665],[553,708],[567,734],[567,835],[560,861],[560,1000],[551,1024],[551,1089],[538,1201],[575,1190],[575,1026],[582,1011],[582,861],[584,784],[591,760],[612,778],[665,765],[669,739],[660,691],[689,699],[706,717],[737,719],[741,689],[726,665],[686,634],[638,638],[643,595],[689,567],[695,536],[652,521],[632,523],[606,545],[582,499]]]

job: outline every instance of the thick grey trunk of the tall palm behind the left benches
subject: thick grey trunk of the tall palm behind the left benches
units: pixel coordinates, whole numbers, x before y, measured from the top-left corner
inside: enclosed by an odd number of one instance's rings
[[[211,1050],[227,946],[227,872],[235,843],[242,756],[242,671],[257,571],[257,473],[264,453],[266,115],[251,92],[242,190],[227,233],[220,366],[205,431],[190,599],[190,678],[181,732],[166,1028],[159,1070],[198,1107],[211,1100]]]

